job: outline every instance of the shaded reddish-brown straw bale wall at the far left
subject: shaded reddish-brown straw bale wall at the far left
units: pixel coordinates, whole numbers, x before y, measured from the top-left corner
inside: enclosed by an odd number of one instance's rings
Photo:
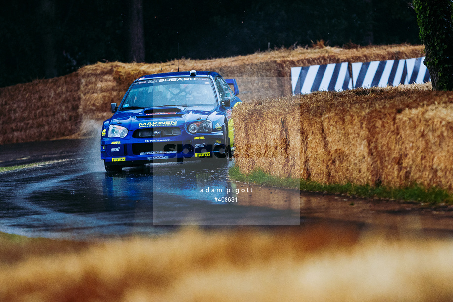
[[[0,89],[0,144],[42,141],[77,131],[79,78],[76,74]]]

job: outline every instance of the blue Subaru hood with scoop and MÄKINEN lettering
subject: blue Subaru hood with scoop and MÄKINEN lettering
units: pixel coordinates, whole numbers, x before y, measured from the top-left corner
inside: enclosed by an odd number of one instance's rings
[[[130,129],[185,126],[194,121],[202,121],[215,114],[218,107],[214,106],[167,106],[145,109],[118,111],[111,118],[111,124],[119,124]]]

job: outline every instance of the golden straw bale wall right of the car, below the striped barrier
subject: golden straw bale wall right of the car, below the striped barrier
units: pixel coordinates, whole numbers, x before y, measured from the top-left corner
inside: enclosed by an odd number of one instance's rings
[[[453,92],[429,89],[318,92],[243,104],[233,113],[236,164],[245,173],[259,168],[321,183],[453,190]]]

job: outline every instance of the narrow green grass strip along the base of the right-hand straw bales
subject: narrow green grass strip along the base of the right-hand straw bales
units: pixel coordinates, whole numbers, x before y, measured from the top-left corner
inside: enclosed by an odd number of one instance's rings
[[[453,195],[448,191],[436,187],[425,188],[418,184],[408,187],[385,187],[371,185],[346,184],[322,184],[316,181],[303,179],[280,178],[272,176],[261,170],[255,170],[246,175],[237,166],[230,168],[229,175],[235,181],[256,183],[258,185],[276,186],[285,188],[299,188],[302,191],[323,192],[332,194],[345,194],[349,196],[360,196],[366,198],[385,198],[404,201],[417,201],[421,203],[453,204]]]

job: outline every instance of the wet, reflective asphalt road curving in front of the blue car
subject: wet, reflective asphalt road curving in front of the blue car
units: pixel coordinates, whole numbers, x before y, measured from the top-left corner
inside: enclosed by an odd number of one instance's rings
[[[108,174],[99,149],[97,139],[0,146],[0,166],[53,162],[0,173],[0,231],[89,239],[157,235],[186,224],[229,228],[322,222],[384,228],[398,236],[453,236],[453,205],[243,184],[228,177],[233,162],[223,167],[199,162],[156,164]],[[216,202],[216,197],[235,202]]]

